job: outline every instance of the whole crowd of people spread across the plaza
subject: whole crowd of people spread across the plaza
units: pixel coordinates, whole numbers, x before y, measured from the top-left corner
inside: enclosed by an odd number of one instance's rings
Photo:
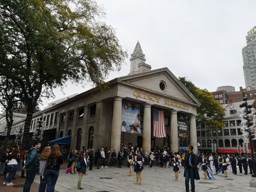
[[[4,175],[5,181],[3,185],[13,185],[13,179],[17,170],[21,170],[21,177],[26,178],[24,183],[24,192],[30,192],[31,185],[38,173],[40,175],[40,185],[38,192],[54,192],[55,185],[59,177],[59,170],[64,162],[63,155],[58,144],[53,146],[45,146],[39,150],[41,144],[34,142],[32,148],[28,151],[19,147],[16,142],[13,147],[6,148],[0,154],[0,175]],[[66,173],[78,173],[77,188],[82,188],[82,179],[86,175],[86,169],[93,170],[108,168],[108,166],[115,166],[118,164],[122,168],[125,161],[128,166],[128,176],[133,172],[136,173],[136,182],[134,184],[142,184],[142,170],[144,166],[159,166],[159,167],[173,167],[175,172],[174,181],[178,181],[180,167],[183,166],[186,191],[189,189],[189,181],[191,181],[192,191],[194,191],[194,179],[199,179],[198,170],[203,170],[204,178],[207,179],[209,175],[209,168],[212,172],[219,174],[222,172],[224,177],[227,177],[227,169],[229,165],[232,167],[233,174],[237,174],[236,165],[239,167],[239,172],[248,174],[248,165],[250,174],[253,173],[252,158],[249,156],[225,156],[212,154],[195,154],[192,153],[193,147],[189,146],[186,152],[172,152],[168,147],[154,147],[151,150],[143,150],[138,146],[128,147],[121,143],[118,153],[113,150],[110,152],[107,147],[97,149],[83,149],[78,152],[76,149],[71,149],[67,155],[67,169]],[[134,169],[133,169],[134,166]],[[207,172],[208,171],[208,172]],[[26,177],[24,176],[26,172]]]

